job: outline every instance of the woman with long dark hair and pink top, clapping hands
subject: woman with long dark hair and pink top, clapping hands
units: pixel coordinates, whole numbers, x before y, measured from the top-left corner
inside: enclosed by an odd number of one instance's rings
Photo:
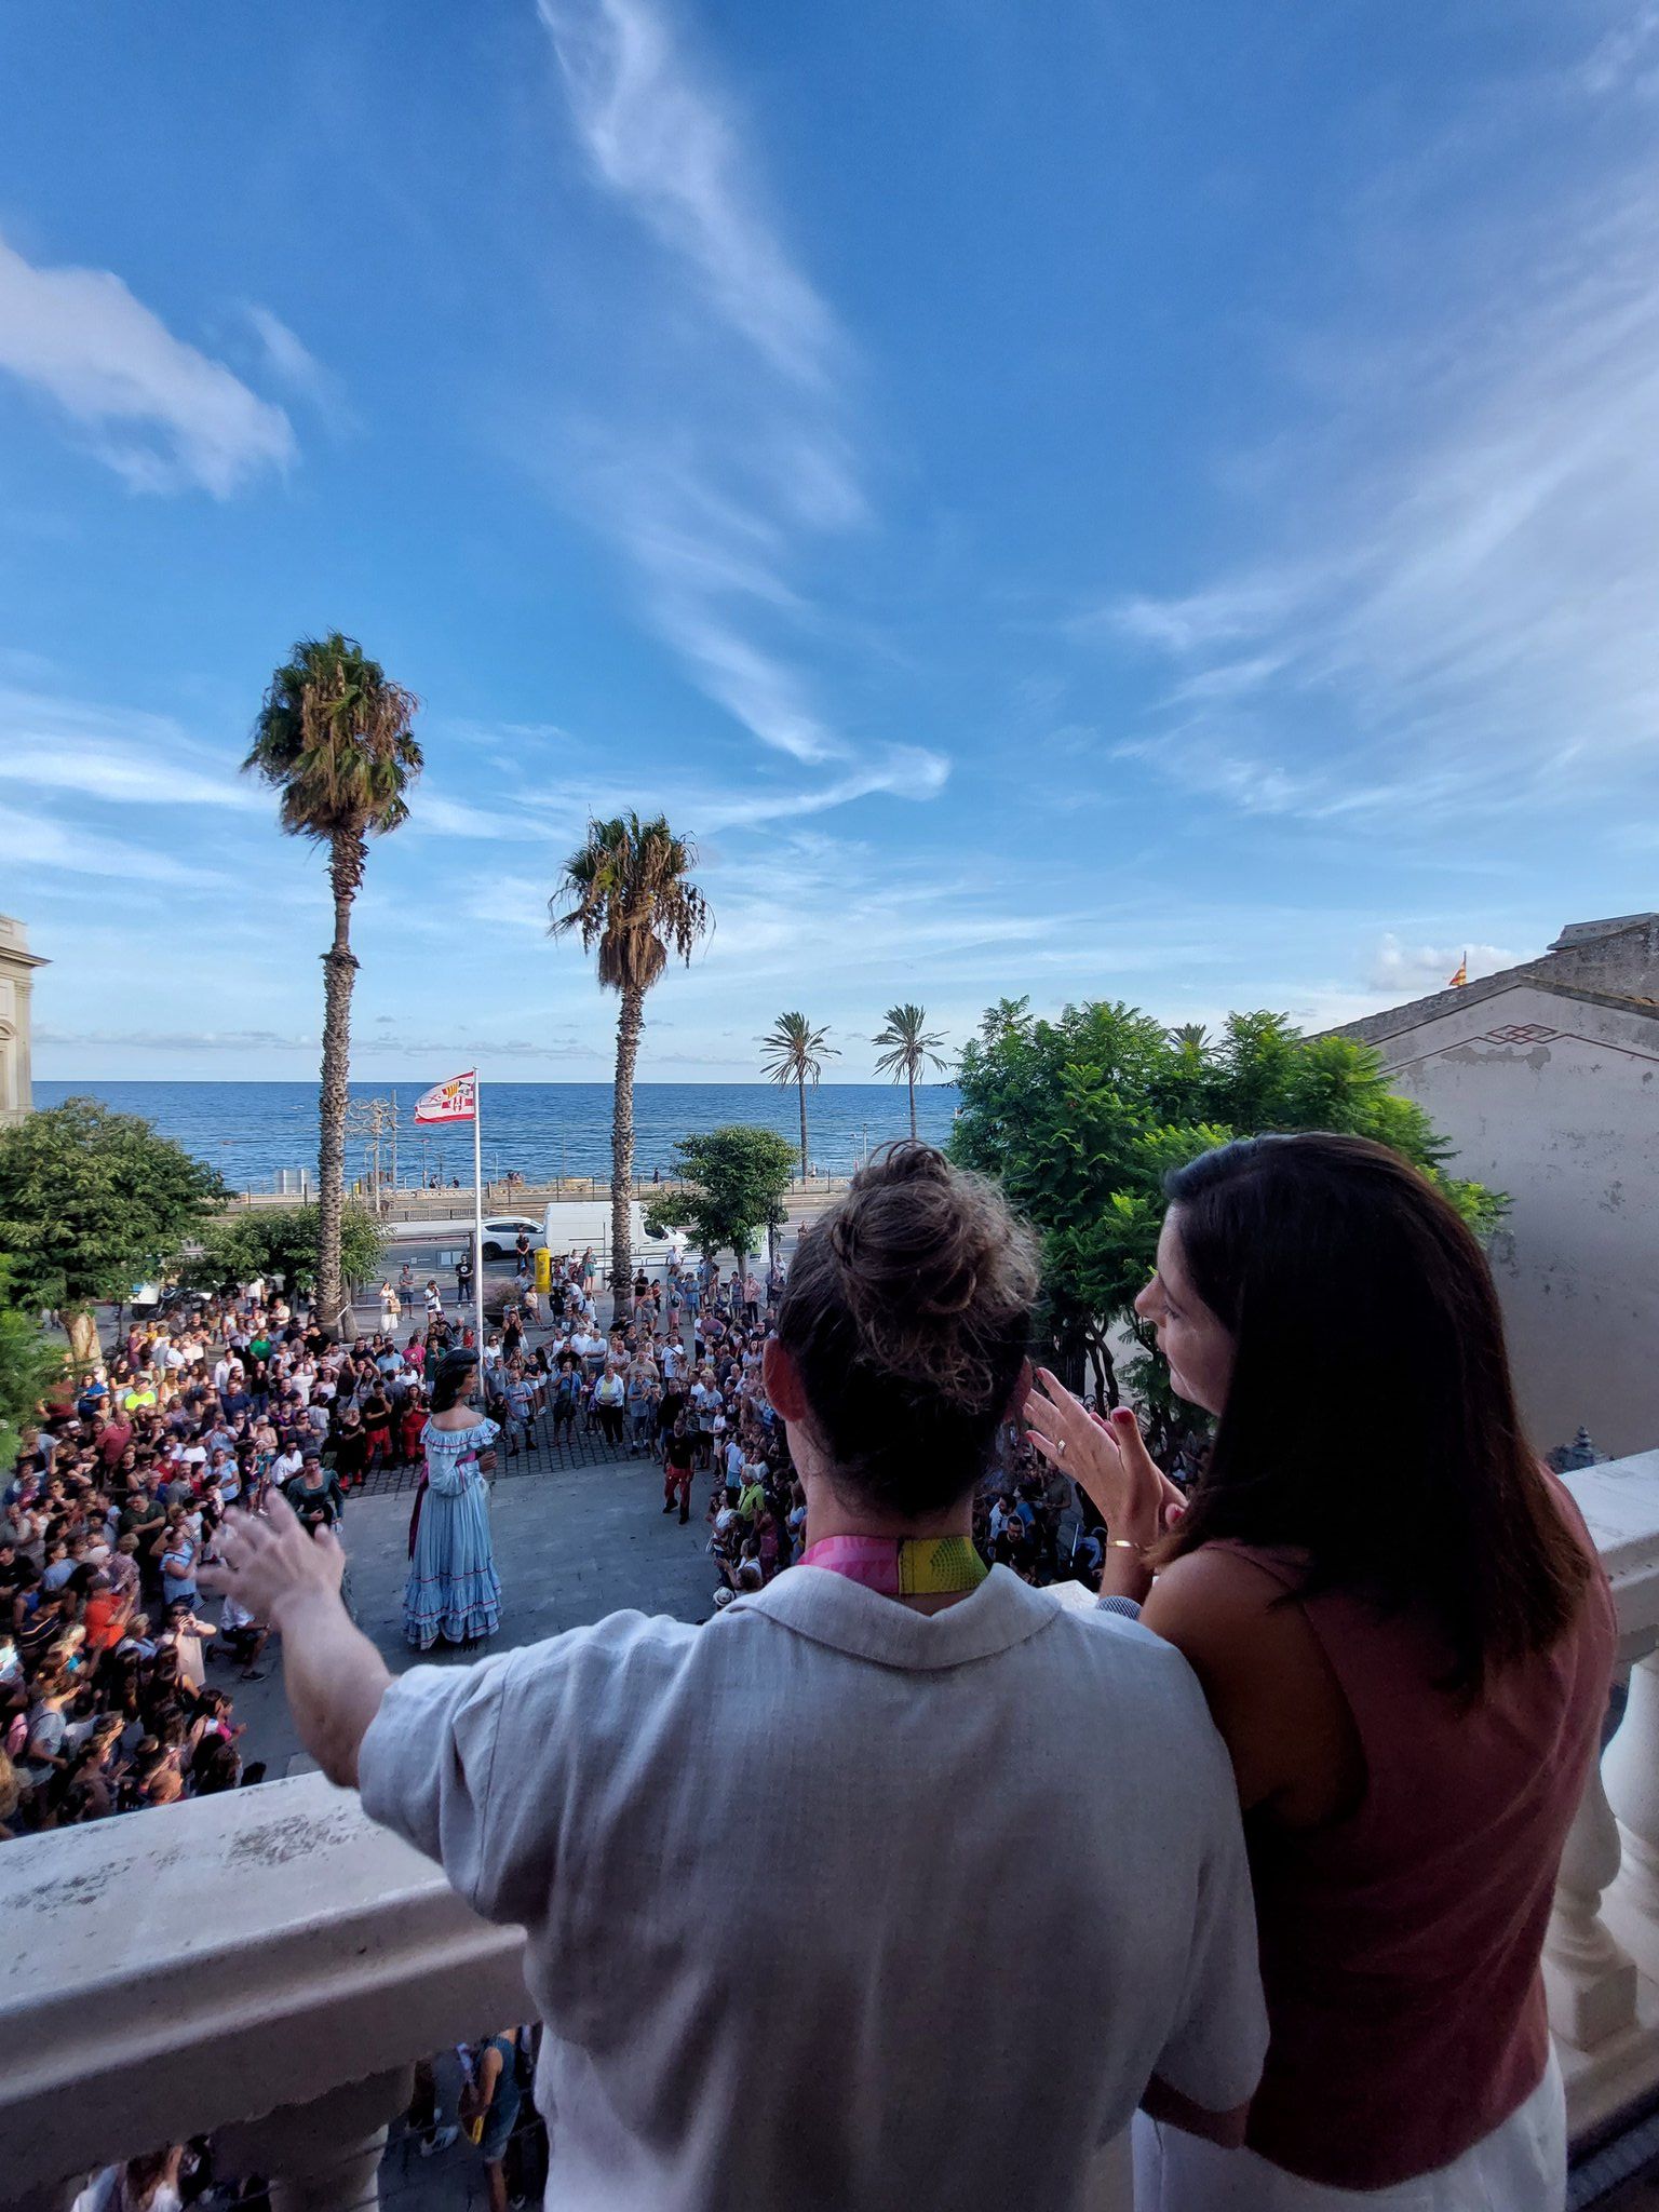
[[[1217,1416],[1183,1511],[1133,1413],[1051,1374],[1026,1407],[1106,1517],[1102,1588],[1199,1674],[1250,1836],[1245,2148],[1137,2121],[1139,2212],[1559,2212],[1540,1953],[1615,1621],[1486,1261],[1358,1137],[1241,1139],[1166,1188],[1137,1310]]]

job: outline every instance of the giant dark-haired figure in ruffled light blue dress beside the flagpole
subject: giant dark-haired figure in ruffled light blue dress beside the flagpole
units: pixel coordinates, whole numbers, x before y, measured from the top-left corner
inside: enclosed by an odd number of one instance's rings
[[[425,1471],[409,1524],[409,1579],[403,1590],[403,1635],[420,1652],[438,1641],[478,1644],[493,1637],[502,1619],[484,1489],[484,1475],[495,1469],[500,1429],[473,1411],[476,1391],[478,1354],[447,1354],[422,1431]]]

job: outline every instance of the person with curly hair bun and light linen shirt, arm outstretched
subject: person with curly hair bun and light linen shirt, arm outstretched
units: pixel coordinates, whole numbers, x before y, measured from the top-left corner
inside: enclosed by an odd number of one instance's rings
[[[1241,2139],[1265,2028],[1199,1683],[973,1546],[1035,1294],[991,1186],[878,1155],[765,1347],[801,1566],[701,1628],[394,1681],[330,1533],[228,1526],[323,1772],[526,1931],[551,2201],[1084,2212],[1137,2106]]]

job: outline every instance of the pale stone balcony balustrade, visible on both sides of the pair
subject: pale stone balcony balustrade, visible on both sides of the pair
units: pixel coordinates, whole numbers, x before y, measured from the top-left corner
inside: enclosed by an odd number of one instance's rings
[[[1568,1482],[1628,1668],[1544,1960],[1582,2139],[1659,2093],[1659,1451]],[[372,2205],[411,2064],[531,2013],[520,1933],[314,1774],[0,1845],[0,2205],[29,2212],[206,2132],[274,2212]]]

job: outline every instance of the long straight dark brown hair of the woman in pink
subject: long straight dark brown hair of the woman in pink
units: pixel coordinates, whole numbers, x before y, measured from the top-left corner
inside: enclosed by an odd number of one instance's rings
[[[1590,1575],[1526,1444],[1491,1270],[1451,1203],[1365,1137],[1241,1137],[1166,1181],[1186,1272],[1234,1338],[1203,1478],[1161,1546],[1305,1553],[1444,1635],[1444,1688],[1548,1650]]]

